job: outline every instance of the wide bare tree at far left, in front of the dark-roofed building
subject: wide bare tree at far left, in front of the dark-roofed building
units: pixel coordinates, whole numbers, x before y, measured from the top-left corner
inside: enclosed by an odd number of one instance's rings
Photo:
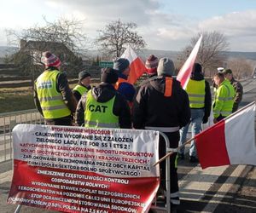
[[[49,22],[44,18],[44,26],[35,25],[21,32],[9,30],[9,41],[20,43],[19,51],[12,55],[13,62],[24,72],[38,70],[42,53],[49,50],[60,57],[64,69],[75,70],[82,64],[80,51],[86,41],[82,24],[83,20],[61,18]]]

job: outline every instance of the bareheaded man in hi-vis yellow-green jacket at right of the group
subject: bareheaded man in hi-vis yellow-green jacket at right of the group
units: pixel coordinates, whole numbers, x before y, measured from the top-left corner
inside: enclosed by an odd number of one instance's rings
[[[224,79],[223,73],[215,74],[213,80],[218,86],[212,105],[213,123],[215,124],[232,113],[235,89],[230,81]]]

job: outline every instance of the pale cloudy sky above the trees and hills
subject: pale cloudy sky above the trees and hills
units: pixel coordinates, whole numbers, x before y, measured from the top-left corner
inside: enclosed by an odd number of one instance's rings
[[[254,0],[7,0],[0,8],[0,45],[5,29],[22,29],[61,16],[84,20],[87,37],[113,20],[137,23],[148,49],[181,50],[200,31],[224,33],[232,51],[256,51]]]

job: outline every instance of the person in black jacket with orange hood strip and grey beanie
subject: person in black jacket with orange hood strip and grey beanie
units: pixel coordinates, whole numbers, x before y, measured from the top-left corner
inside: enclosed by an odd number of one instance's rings
[[[164,132],[172,148],[177,148],[179,129],[189,123],[189,97],[180,83],[172,78],[172,60],[161,58],[157,67],[157,78],[152,78],[138,90],[133,106],[135,129],[159,130]],[[160,158],[166,154],[165,140],[160,136]],[[177,184],[177,154],[171,161],[171,203],[180,204]],[[166,162],[160,163],[160,192],[166,191]],[[165,194],[165,193],[164,193]],[[158,197],[160,199],[160,196]]]

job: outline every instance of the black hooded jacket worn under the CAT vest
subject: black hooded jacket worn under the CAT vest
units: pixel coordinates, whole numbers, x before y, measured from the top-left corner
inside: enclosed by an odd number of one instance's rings
[[[119,92],[114,89],[112,84],[109,83],[100,83],[95,88],[91,89],[91,94],[98,102],[107,102],[115,96],[113,102],[113,114],[119,117],[119,126],[122,129],[131,129],[131,112],[130,108],[125,100],[123,95],[120,95]],[[81,126],[84,124],[84,109],[86,106],[86,97],[85,93],[82,95],[77,110],[75,114],[76,124]]]

